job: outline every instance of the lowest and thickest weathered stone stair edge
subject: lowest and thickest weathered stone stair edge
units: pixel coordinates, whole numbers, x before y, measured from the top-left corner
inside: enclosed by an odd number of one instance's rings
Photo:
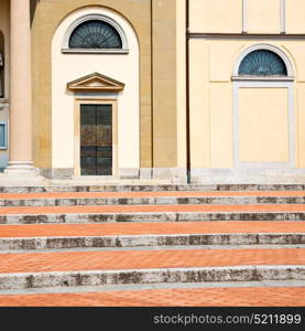
[[[0,290],[161,282],[305,280],[305,266],[230,266],[0,274]]]

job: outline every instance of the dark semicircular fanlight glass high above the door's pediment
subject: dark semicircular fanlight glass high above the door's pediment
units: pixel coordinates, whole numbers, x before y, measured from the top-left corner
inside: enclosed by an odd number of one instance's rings
[[[79,24],[69,39],[70,49],[122,49],[118,31],[109,23],[91,20]]]

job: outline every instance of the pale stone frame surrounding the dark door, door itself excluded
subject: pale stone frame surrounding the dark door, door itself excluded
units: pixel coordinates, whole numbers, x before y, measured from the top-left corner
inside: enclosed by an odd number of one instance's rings
[[[80,107],[81,105],[111,105],[112,107],[112,175],[100,175],[102,178],[118,177],[118,100],[97,98],[75,98],[74,102],[74,175],[80,174]],[[89,177],[88,177],[89,178]],[[92,178],[90,175],[90,178]]]

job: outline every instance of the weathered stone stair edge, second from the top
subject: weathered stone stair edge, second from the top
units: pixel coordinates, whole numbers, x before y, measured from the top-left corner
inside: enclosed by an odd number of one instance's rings
[[[0,206],[73,206],[144,204],[305,204],[305,196],[207,196],[207,197],[100,197],[100,199],[0,199]]]

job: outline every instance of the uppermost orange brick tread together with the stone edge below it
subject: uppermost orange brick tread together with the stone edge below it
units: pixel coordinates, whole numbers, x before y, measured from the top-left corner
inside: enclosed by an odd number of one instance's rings
[[[302,204],[305,191],[0,193],[0,206]]]

